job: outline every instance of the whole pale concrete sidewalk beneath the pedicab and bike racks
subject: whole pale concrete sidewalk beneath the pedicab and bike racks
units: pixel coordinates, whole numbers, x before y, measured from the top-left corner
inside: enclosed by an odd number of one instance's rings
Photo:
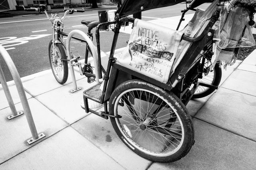
[[[177,25],[175,17],[151,22],[166,21],[171,23],[166,26]],[[25,115],[8,121],[11,111],[0,88],[0,169],[256,168],[256,51],[222,71],[216,93],[188,103],[195,144],[184,158],[169,164],[141,158],[122,143],[109,120],[85,113],[80,107],[82,92],[94,84],[75,72],[78,87],[82,88],[75,93],[69,92],[73,88],[71,76],[60,85],[51,70],[22,78],[37,131],[46,135],[32,145],[26,143],[32,135]],[[16,87],[12,82],[8,84],[20,111]]]

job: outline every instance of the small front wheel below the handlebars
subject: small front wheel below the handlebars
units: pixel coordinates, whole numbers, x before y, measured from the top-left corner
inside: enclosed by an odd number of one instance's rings
[[[58,83],[64,84],[68,79],[68,62],[67,61],[61,61],[60,59],[67,59],[65,50],[63,46],[60,43],[56,43],[56,56],[57,58],[52,61],[52,49],[53,49],[53,43],[52,40],[49,43],[48,47],[48,54],[49,54],[49,61],[50,66],[52,69],[52,73],[54,75],[54,78],[57,80]]]

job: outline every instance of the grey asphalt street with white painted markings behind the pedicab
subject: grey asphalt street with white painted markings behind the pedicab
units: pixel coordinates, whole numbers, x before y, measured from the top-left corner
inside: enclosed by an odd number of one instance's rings
[[[200,8],[205,9],[208,4]],[[181,15],[180,11],[186,8],[186,4],[177,4],[165,8],[158,8],[142,12],[142,20],[153,20]],[[102,9],[100,9],[102,10]],[[188,12],[187,14],[193,13]],[[63,15],[63,12],[60,12]],[[82,25],[81,20],[98,20],[98,10],[86,11],[67,15],[64,23],[64,32],[69,33],[74,29],[87,32],[87,27]],[[95,31],[95,30],[94,30]],[[94,32],[93,31],[93,32]],[[0,18],[0,44],[8,50],[20,77],[34,74],[50,68],[48,58],[48,44],[52,39],[52,24],[44,14],[22,15]],[[114,33],[102,31],[100,33],[100,47],[104,52],[110,51]],[[116,49],[125,47],[130,35],[120,33]],[[94,37],[94,45],[96,45]],[[71,51],[78,51],[83,56],[84,45],[81,42],[71,42]],[[0,57],[0,64],[6,76],[6,80],[12,80],[6,63]]]

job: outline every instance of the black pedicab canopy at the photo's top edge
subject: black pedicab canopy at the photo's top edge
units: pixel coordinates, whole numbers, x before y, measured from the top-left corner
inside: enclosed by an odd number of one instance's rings
[[[124,17],[146,10],[176,5],[184,1],[186,0],[124,0],[116,14],[119,14],[120,17]],[[190,6],[196,8],[201,4],[213,1],[214,0],[194,0]]]

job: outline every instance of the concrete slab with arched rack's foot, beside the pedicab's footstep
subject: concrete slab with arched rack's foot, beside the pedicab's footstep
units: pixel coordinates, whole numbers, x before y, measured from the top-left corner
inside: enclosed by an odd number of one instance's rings
[[[52,111],[54,111],[54,113],[60,116],[63,120],[72,124],[88,115],[88,113],[85,113],[84,109],[80,106],[80,102],[83,100],[82,93],[84,90],[96,84],[95,82],[88,84],[87,78],[78,80],[76,83],[78,87],[82,88],[82,90],[71,93],[70,90],[73,89],[73,84],[70,83],[60,88],[56,88],[55,90],[38,95],[36,96],[36,99],[42,102],[46,107],[52,109]]]

